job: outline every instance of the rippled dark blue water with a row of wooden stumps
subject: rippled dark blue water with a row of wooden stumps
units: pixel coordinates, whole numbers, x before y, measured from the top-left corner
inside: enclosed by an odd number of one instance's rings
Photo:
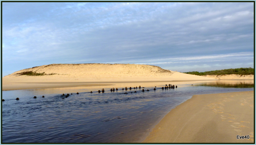
[[[253,80],[242,81],[240,86],[236,84],[241,81],[193,83],[172,82],[178,88],[162,90],[169,83],[158,82],[156,91],[150,86],[145,92],[142,88],[121,90],[124,84],[103,86],[105,93],[97,92],[102,86],[2,91],[2,142],[140,142],[165,114],[195,94],[254,90]],[[119,90],[110,92],[112,87]]]

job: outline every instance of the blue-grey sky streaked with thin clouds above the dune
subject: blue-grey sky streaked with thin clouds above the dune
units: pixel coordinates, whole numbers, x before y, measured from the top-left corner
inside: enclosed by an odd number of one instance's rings
[[[2,10],[3,76],[53,63],[254,67],[253,3],[3,2]]]

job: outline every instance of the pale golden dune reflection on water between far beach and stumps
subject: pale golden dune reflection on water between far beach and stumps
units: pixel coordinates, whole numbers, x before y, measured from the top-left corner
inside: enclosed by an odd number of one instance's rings
[[[3,92],[3,99],[8,99],[5,98],[7,95],[4,95],[5,93],[9,94],[9,97],[14,98],[14,96],[40,96],[42,95],[52,95],[52,94],[62,94],[62,93],[76,93],[76,92],[97,92],[98,90],[102,90],[102,88],[105,89],[105,91],[110,91],[110,88],[118,88],[119,90],[122,90],[122,88],[125,89],[125,87],[132,87],[132,90],[134,87],[162,87],[165,86],[165,84],[169,85],[177,85],[178,87],[183,87],[183,86],[188,86],[191,84],[202,84],[205,82],[214,82],[215,80],[212,81],[169,81],[169,82],[125,82],[125,83],[100,83],[98,84],[91,84],[92,86],[76,86],[76,87],[60,87],[60,88],[44,88],[44,89],[28,89],[28,90],[11,90],[11,91],[2,91]],[[100,86],[99,86],[100,85]],[[10,93],[12,95],[10,95]]]

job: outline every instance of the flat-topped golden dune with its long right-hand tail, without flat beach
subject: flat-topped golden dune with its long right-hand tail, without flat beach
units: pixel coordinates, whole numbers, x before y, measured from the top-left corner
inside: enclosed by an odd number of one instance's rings
[[[44,73],[43,76],[21,75],[23,72]],[[53,74],[53,75],[49,75]],[[86,78],[94,82],[120,81],[172,81],[172,80],[211,80],[212,78],[190,75],[162,69],[159,66],[135,64],[51,64],[36,66],[13,72],[4,78]]]

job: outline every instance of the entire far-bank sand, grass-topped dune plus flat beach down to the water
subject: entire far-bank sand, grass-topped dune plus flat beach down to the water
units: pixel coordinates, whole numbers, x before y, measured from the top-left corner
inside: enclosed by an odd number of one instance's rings
[[[43,76],[20,75],[22,72],[43,73]],[[54,74],[54,75],[47,75]],[[88,86],[117,82],[163,82],[215,80],[162,69],[158,66],[135,64],[51,64],[23,69],[2,78],[2,90]],[[93,84],[94,83],[94,84]]]

